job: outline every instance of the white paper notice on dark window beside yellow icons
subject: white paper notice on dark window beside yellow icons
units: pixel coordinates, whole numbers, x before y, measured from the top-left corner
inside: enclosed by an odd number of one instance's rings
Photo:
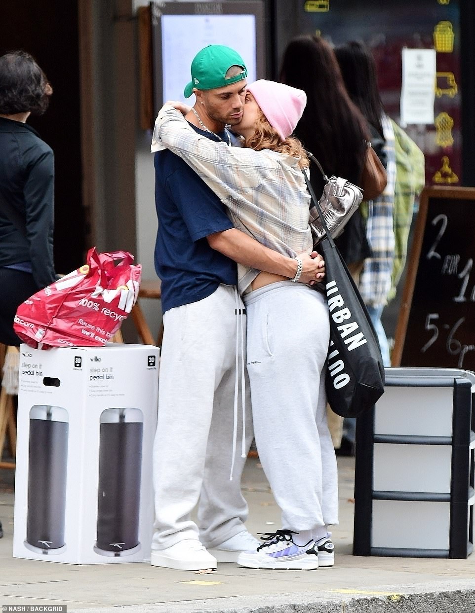
[[[433,124],[435,49],[403,49],[401,125]]]

